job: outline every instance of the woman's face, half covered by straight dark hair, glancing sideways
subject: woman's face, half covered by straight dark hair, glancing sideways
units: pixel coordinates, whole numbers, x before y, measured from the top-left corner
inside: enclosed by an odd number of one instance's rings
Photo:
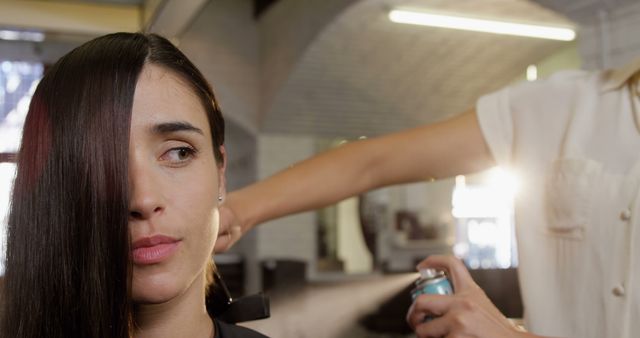
[[[224,165],[200,100],[172,71],[145,65],[129,143],[133,301],[157,304],[203,288],[218,233]]]

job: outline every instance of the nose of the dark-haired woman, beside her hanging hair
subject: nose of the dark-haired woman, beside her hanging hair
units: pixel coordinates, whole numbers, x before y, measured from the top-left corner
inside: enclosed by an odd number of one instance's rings
[[[164,211],[161,182],[151,170],[135,161],[130,161],[129,165],[129,218],[151,219]]]

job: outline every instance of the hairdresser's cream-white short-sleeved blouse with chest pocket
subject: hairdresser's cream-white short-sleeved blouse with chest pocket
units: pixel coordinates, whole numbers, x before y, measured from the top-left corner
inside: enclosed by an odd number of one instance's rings
[[[640,334],[639,70],[640,60],[562,72],[477,103],[494,158],[522,182],[516,236],[530,332]]]

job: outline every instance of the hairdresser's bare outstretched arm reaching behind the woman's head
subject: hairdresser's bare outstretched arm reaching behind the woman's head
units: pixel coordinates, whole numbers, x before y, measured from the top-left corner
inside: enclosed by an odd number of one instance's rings
[[[349,143],[229,194],[220,208],[216,250],[225,250],[230,238],[235,242],[267,220],[386,185],[445,178],[492,165],[474,110],[444,122]]]

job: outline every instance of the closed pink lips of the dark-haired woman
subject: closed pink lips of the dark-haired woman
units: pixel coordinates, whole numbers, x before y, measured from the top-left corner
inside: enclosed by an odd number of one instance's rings
[[[136,265],[157,264],[165,261],[176,252],[180,240],[156,235],[144,237],[132,243],[133,263]]]

